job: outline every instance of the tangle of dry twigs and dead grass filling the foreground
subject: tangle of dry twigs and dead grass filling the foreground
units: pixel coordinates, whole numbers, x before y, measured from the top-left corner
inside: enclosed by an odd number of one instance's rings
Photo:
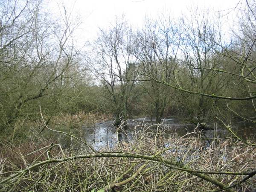
[[[235,185],[232,188],[235,191],[256,190],[255,175],[238,183],[246,177],[241,173],[255,171],[256,149],[234,138],[216,139],[209,143],[202,140],[200,132],[197,131],[183,137],[173,134],[166,138],[161,131],[136,132],[135,128],[133,139],[128,143],[119,142],[113,148],[101,149],[102,153],[109,154],[108,157],[93,157],[94,154],[100,156],[101,153],[91,151],[74,137],[73,144],[63,149],[63,146],[55,145],[59,143],[57,137],[47,137],[47,134],[42,134],[39,130],[40,128],[31,129],[31,136],[19,145],[2,143],[1,191],[96,192],[101,189],[120,192],[185,192],[219,189],[211,182],[193,175],[192,172],[181,170],[188,168],[204,172],[204,175],[226,186]],[[79,137],[79,134],[76,136]],[[76,145],[79,147],[75,147]],[[115,157],[113,154],[117,151],[129,154],[130,157]],[[144,157],[131,157],[135,154],[152,158],[148,160]],[[80,158],[79,155],[85,156]],[[73,158],[65,160],[67,157]],[[43,163],[26,172],[23,171],[38,162],[58,159],[60,161]],[[167,161],[171,164],[166,163]],[[12,177],[16,173],[19,174]]]

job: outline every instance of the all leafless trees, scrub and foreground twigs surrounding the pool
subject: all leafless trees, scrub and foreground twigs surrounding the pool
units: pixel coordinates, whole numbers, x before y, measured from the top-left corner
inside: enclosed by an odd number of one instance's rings
[[[233,128],[256,129],[253,0],[232,9],[228,32],[206,9],[136,29],[122,16],[85,47],[68,10],[0,0],[1,191],[256,190],[255,138]],[[174,114],[195,131],[166,138],[161,123]],[[129,142],[96,150],[83,139],[84,124],[113,119],[125,132],[137,116],[152,125],[134,125]],[[231,137],[202,138],[212,122]]]

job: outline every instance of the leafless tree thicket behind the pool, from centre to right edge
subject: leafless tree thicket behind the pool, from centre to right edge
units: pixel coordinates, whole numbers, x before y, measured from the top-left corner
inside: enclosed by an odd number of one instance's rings
[[[216,116],[255,122],[255,38],[248,35],[255,11],[250,4],[240,10],[239,26],[228,34],[221,17],[205,10],[147,19],[141,29],[120,18],[101,29],[89,63],[111,98],[111,112],[121,120],[150,115],[157,123],[174,113],[195,124]]]

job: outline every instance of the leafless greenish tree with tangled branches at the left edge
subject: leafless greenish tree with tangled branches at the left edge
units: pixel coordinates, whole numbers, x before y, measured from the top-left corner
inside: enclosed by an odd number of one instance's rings
[[[44,2],[1,1],[1,129],[15,129],[19,118],[38,118],[41,103],[50,116],[64,93],[65,72],[78,64],[71,14],[60,6],[61,19],[44,12]],[[67,86],[67,84],[66,84]],[[36,115],[37,114],[37,115]],[[48,119],[48,121],[49,121]]]

